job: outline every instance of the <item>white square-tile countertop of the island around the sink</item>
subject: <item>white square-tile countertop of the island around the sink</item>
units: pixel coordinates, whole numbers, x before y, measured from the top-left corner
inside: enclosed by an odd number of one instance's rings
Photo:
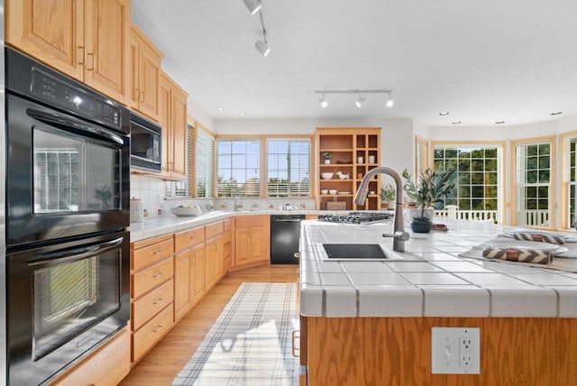
[[[402,260],[325,261],[321,243],[392,248],[392,224],[301,223],[300,312],[308,317],[577,317],[577,273],[465,259],[459,253],[517,229],[445,221],[449,232],[411,234]],[[406,229],[410,229],[406,225]],[[572,234],[574,235],[574,234]],[[577,271],[577,260],[575,260]]]

